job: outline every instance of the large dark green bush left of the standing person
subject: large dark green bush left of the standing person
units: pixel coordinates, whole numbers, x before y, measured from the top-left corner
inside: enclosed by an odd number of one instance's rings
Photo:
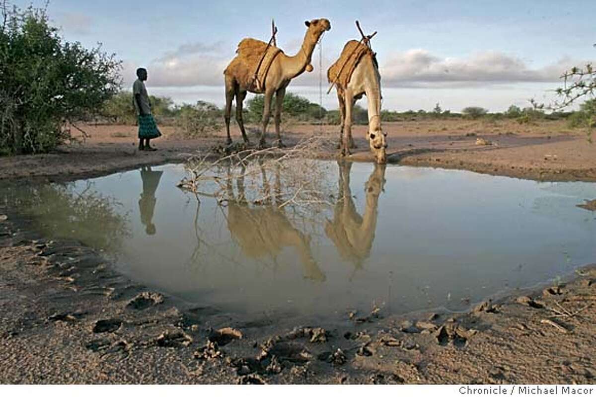
[[[45,10],[2,14],[0,150],[44,152],[69,138],[66,122],[97,112],[117,92],[120,62],[100,46],[64,42]]]

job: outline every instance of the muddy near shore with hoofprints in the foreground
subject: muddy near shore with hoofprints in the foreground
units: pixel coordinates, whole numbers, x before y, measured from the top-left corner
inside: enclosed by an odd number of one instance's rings
[[[329,327],[189,305],[1,213],[2,383],[596,382],[596,265],[466,313]]]

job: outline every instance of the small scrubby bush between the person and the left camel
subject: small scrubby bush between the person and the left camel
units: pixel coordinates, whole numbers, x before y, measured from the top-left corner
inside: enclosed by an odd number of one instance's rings
[[[205,135],[223,126],[222,111],[212,103],[184,104],[176,107],[174,113],[176,130],[185,137]]]

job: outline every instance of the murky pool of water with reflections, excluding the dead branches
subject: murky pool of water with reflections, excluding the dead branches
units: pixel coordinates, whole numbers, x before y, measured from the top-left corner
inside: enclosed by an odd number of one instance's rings
[[[459,311],[596,262],[596,214],[576,206],[596,198],[596,184],[324,166],[331,204],[299,212],[199,203],[175,187],[178,165],[1,196],[49,237],[104,250],[136,281],[244,314]]]

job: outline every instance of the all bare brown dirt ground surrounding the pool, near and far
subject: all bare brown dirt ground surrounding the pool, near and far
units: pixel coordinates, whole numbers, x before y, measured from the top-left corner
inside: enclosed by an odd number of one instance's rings
[[[183,141],[164,128],[159,151],[139,153],[134,126],[88,129],[80,146],[0,158],[0,178],[78,179],[181,161],[222,141],[221,133]],[[596,148],[560,122],[436,120],[384,129],[392,162],[596,180]],[[335,126],[288,130],[288,143],[312,133],[337,138]],[[356,160],[370,159],[363,136],[356,127]],[[596,383],[596,265],[462,314],[381,310],[346,314],[331,327],[243,318],[127,280],[101,252],[45,240],[0,203],[0,319],[1,383]]]

